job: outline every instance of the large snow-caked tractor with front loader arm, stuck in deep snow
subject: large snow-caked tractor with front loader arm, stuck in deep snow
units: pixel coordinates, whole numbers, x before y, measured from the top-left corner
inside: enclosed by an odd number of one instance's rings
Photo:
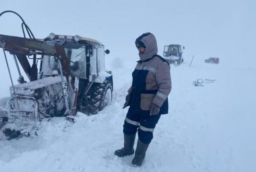
[[[96,114],[111,103],[113,80],[104,61],[109,50],[100,42],[54,33],[41,40],[0,35],[0,47],[7,64],[6,51],[13,55],[19,73],[19,84],[10,87],[9,122],[38,125],[45,117]]]

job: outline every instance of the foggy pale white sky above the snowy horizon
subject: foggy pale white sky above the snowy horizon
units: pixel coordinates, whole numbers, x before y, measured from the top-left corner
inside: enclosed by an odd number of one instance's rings
[[[18,12],[37,38],[51,32],[95,38],[110,49],[114,58],[138,58],[136,37],[152,32],[157,38],[159,55],[164,45],[177,43],[185,46],[185,61],[195,54],[195,60],[200,61],[219,57],[222,62],[237,62],[246,57],[245,61],[256,62],[253,0],[1,0],[0,11],[4,10]],[[22,36],[20,19],[4,14],[0,17],[0,34]],[[254,66],[251,62],[249,65]]]

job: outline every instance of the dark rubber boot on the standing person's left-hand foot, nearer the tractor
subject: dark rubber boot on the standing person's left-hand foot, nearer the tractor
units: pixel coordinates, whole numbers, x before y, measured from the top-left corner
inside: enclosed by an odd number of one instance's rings
[[[136,137],[136,134],[135,135],[124,134],[124,147],[122,149],[116,150],[114,154],[119,157],[124,157],[127,155],[134,154],[133,145],[134,145],[135,137]]]

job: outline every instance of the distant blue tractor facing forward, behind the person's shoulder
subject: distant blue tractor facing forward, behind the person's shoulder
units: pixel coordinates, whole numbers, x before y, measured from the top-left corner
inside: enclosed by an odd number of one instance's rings
[[[174,63],[180,65],[184,61],[182,57],[183,49],[185,49],[185,47],[179,44],[166,45],[163,56],[170,64]]]

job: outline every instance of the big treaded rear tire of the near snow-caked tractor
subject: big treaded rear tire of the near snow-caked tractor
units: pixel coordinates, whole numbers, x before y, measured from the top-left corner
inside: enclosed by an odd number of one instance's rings
[[[104,81],[102,84],[93,84],[87,95],[82,98],[79,111],[87,115],[98,113],[111,104],[112,91],[113,88],[109,81]]]

